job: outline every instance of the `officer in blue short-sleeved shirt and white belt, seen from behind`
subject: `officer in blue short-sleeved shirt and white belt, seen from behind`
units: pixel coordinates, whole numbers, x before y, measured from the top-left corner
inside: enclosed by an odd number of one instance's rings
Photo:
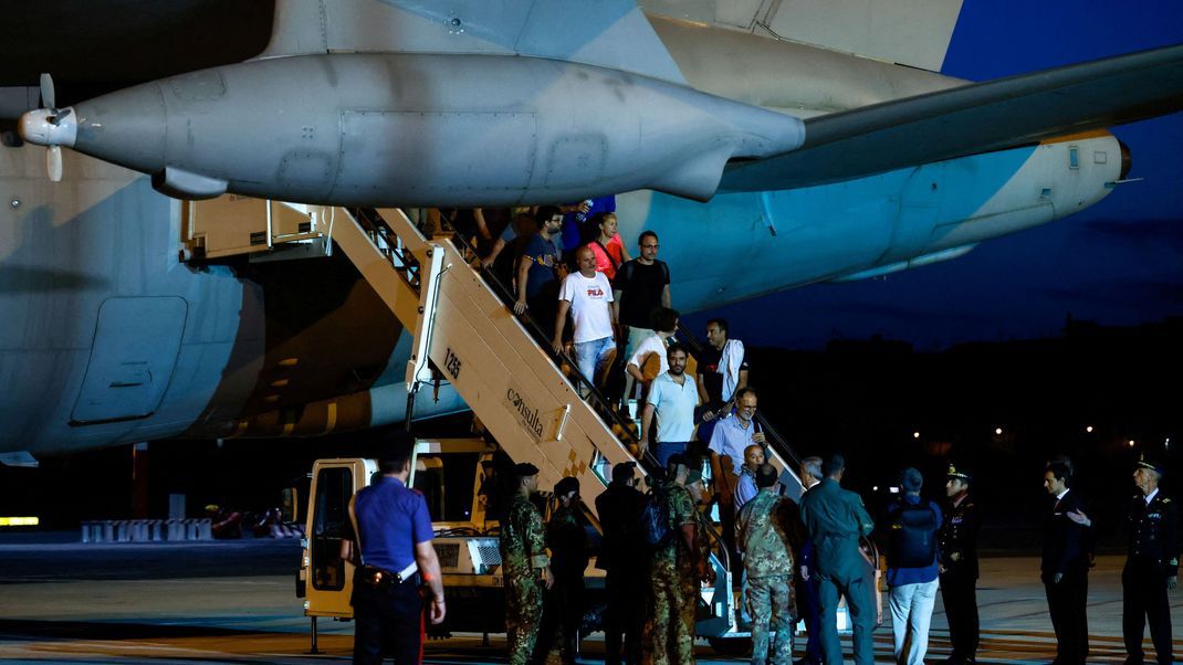
[[[422,661],[424,598],[429,588],[429,618],[444,620],[444,582],[432,546],[427,502],[407,487],[411,443],[400,442],[379,458],[379,477],[349,502],[360,547],[341,542],[341,558],[357,566],[354,574],[354,663],[382,663],[394,652],[397,665]],[[357,550],[361,556],[355,558]]]

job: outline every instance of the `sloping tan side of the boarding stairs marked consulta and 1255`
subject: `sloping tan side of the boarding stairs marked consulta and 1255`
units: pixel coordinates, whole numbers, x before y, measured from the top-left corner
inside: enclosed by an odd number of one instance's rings
[[[515,462],[538,467],[539,487],[574,476],[589,507],[608,465],[635,461],[621,423],[582,398],[586,379],[551,360],[452,239],[400,209],[337,208],[332,240],[413,331],[408,392],[442,374]]]

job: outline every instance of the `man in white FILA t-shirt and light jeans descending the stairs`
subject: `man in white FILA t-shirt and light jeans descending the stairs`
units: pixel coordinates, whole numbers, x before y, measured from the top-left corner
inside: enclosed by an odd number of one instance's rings
[[[595,269],[595,253],[580,247],[575,253],[580,270],[567,275],[558,292],[558,312],[555,317],[555,353],[563,352],[563,330],[567,312],[575,321],[575,363],[580,373],[595,383],[608,353],[616,348],[613,339],[615,309],[612,307],[612,282]]]

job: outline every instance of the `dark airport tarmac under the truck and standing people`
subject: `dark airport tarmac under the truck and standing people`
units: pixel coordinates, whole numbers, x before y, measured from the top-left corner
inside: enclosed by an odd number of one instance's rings
[[[0,534],[0,661],[348,663],[353,624],[309,619],[296,598],[297,540],[83,545],[77,533]],[[1121,663],[1124,558],[1098,556],[1090,574],[1090,663]],[[1183,589],[1171,592],[1176,625]],[[1047,663],[1055,638],[1034,556],[982,560],[982,663]],[[888,619],[890,620],[890,619]],[[927,661],[949,654],[939,600]],[[796,657],[804,646],[797,638]],[[847,638],[847,650],[849,647]],[[602,661],[600,633],[581,663]],[[1152,651],[1146,639],[1148,657]],[[1183,653],[1183,640],[1175,640]],[[428,663],[505,663],[505,637],[458,634],[426,645]],[[875,631],[875,660],[891,663],[891,627]],[[699,663],[742,663],[699,640]]]

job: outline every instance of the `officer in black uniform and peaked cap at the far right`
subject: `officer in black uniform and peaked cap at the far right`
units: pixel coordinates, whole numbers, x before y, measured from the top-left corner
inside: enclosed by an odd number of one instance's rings
[[[1150,620],[1150,638],[1158,663],[1171,663],[1171,606],[1166,589],[1178,582],[1178,507],[1158,490],[1164,468],[1145,456],[1133,471],[1138,493],[1125,515],[1129,556],[1121,572],[1121,633],[1127,664],[1143,661],[1142,635]]]

